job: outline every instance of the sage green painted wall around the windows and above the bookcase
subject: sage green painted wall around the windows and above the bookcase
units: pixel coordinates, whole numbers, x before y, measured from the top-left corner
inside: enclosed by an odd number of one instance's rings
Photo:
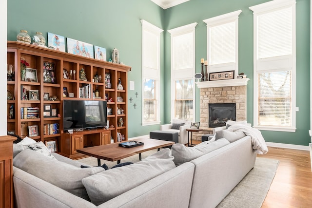
[[[106,48],[107,57],[114,47],[119,50],[120,61],[132,67],[129,81],[135,81],[135,90],[129,91],[132,103],[128,105],[129,137],[148,134],[158,130],[159,125],[141,126],[142,76],[141,76],[141,23],[144,19],[164,32],[161,34],[161,123],[170,122],[170,34],[179,26],[197,22],[195,30],[196,72],[200,72],[200,58],[206,56],[206,24],[203,19],[212,18],[236,10],[239,16],[239,72],[251,79],[247,86],[247,120],[253,123],[253,13],[249,10],[268,0],[190,0],[163,10],[151,0],[9,0],[8,40],[16,40],[20,29],[32,36],[37,31],[45,37],[47,32],[78,39]],[[46,3],[50,2],[50,4]],[[262,131],[268,142],[308,145],[310,137],[310,0],[296,3],[296,132]],[[47,37],[46,37],[47,38]],[[128,83],[129,85],[129,83]],[[138,93],[136,97],[136,92]],[[195,99],[199,99],[196,89]],[[134,108],[133,104],[137,107]],[[196,118],[199,119],[199,102],[196,102]]]

